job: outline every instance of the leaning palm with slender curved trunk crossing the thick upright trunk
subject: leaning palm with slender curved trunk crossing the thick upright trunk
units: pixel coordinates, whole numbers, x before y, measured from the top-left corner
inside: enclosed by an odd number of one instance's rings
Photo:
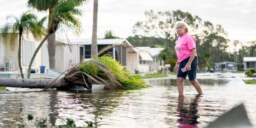
[[[76,7],[78,6],[78,3],[76,3],[75,1],[62,1],[59,2],[58,4],[56,4],[53,8],[53,10],[55,10],[51,16],[49,16],[49,18],[52,20],[52,22],[49,21],[49,23],[51,26],[48,26],[47,29],[47,35],[45,36],[45,38],[43,39],[43,41],[40,43],[40,45],[37,47],[37,49],[35,50],[34,55],[32,56],[32,59],[30,61],[29,64],[29,68],[28,68],[28,76],[27,78],[30,78],[30,70],[31,70],[31,66],[32,66],[32,60],[35,58],[36,53],[39,51],[39,49],[41,48],[41,46],[43,45],[43,43],[45,42],[45,40],[47,39],[52,39],[54,38],[53,43],[50,43],[48,40],[48,51],[52,51],[54,50],[54,59],[49,57],[49,62],[50,62],[50,68],[52,69],[51,65],[54,65],[55,67],[55,31],[60,28],[61,31],[64,31],[66,33],[66,29],[64,29],[65,26],[72,28],[72,30],[75,31],[75,33],[79,33],[80,32],[80,21],[79,19],[77,19],[75,17],[75,15],[77,16],[81,16],[81,10],[77,9]],[[48,24],[49,25],[49,24]],[[50,29],[49,29],[50,28]],[[52,31],[54,31],[54,36],[52,36],[53,34]],[[66,34],[67,36],[67,34]],[[67,36],[68,39],[68,36]],[[52,49],[54,47],[54,49]],[[48,52],[49,53],[49,52]],[[49,53],[49,56],[53,56],[51,54],[53,53]],[[50,60],[54,60],[54,62],[51,62]]]

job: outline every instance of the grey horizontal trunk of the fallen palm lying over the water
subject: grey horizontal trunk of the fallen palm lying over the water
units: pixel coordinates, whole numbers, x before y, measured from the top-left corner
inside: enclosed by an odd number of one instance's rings
[[[23,78],[0,78],[0,86],[22,87],[22,88],[44,88],[51,84],[51,88],[65,87],[68,82],[65,77],[60,79],[23,79]]]

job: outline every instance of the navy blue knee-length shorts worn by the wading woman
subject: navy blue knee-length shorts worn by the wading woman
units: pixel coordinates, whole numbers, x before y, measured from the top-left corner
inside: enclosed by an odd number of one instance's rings
[[[191,63],[190,71],[186,71],[184,73],[181,71],[181,69],[186,66],[189,58],[190,56],[180,62],[177,77],[183,77],[184,79],[186,79],[188,76],[189,80],[193,80],[197,78],[197,56],[195,56],[194,60]]]

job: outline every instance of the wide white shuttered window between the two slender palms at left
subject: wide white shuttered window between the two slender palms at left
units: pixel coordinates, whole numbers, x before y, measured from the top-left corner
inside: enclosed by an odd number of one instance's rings
[[[35,42],[23,40],[23,65],[29,65],[34,52]],[[35,59],[32,65],[35,65]]]

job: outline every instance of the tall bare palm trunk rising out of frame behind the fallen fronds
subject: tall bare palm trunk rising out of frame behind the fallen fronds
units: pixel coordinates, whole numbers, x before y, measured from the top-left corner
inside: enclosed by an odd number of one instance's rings
[[[94,0],[93,4],[93,36],[92,36],[92,47],[91,56],[97,55],[97,19],[98,19],[98,0]]]

